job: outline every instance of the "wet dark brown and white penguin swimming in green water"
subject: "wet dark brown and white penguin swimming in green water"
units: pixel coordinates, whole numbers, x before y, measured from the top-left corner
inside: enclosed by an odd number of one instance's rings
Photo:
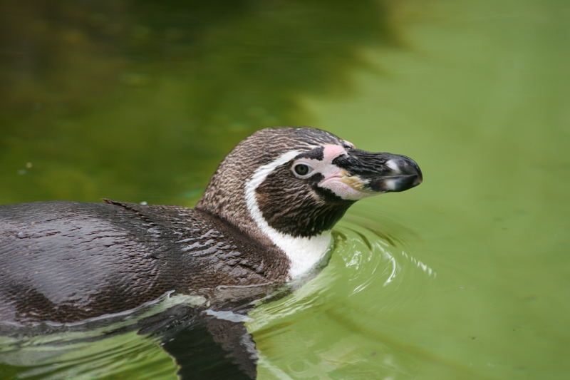
[[[421,181],[403,155],[282,127],[239,143],[194,209],[115,200],[1,205],[0,321],[80,322],[164,294],[199,296],[209,314],[236,310],[314,271],[354,202]],[[242,324],[204,309],[194,314],[209,318],[213,341],[254,376]]]

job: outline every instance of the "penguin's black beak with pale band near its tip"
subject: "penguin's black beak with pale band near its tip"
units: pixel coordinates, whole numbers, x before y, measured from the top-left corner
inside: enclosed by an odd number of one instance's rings
[[[346,170],[340,178],[343,183],[370,195],[408,190],[423,180],[418,164],[405,155],[351,149],[335,158],[333,164]]]

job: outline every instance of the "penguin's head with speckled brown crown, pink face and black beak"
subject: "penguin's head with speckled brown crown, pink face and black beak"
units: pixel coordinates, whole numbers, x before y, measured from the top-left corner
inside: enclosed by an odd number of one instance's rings
[[[317,128],[266,128],[227,155],[197,208],[249,233],[269,226],[312,237],[357,200],[421,182],[420,168],[404,155],[359,150]]]

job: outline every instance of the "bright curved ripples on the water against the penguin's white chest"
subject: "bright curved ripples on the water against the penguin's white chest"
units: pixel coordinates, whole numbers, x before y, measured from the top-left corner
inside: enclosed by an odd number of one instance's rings
[[[265,332],[276,320],[284,327],[301,315],[335,307],[374,314],[420,297],[424,282],[435,279],[437,272],[409,252],[403,237],[382,234],[371,224],[363,218],[358,224],[339,223],[328,265],[293,294],[252,312],[252,331]],[[371,294],[377,304],[368,302]]]

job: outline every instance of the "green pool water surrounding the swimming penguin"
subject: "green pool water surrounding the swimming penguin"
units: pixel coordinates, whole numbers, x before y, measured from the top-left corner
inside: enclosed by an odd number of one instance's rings
[[[321,275],[252,313],[259,379],[566,379],[566,1],[26,4],[0,16],[0,203],[192,206],[252,131],[324,128],[425,181],[358,202]],[[137,336],[70,355],[41,364],[176,372]]]

